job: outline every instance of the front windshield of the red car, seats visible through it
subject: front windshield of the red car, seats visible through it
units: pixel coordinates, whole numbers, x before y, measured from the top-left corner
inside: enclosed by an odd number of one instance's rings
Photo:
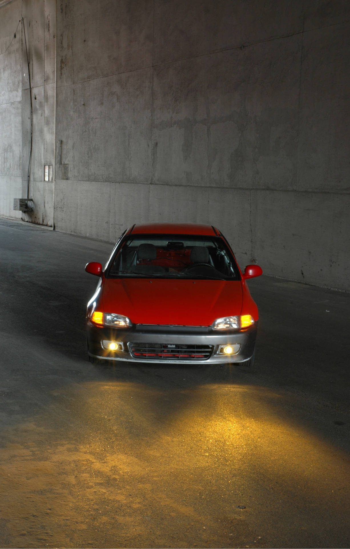
[[[239,279],[237,265],[222,238],[182,234],[125,238],[106,276]]]

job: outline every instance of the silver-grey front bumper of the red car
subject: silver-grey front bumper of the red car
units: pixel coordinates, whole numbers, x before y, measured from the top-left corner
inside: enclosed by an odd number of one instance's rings
[[[208,328],[182,327],[182,326],[134,326],[129,329],[117,329],[99,327],[87,320],[88,353],[95,358],[103,358],[107,361],[127,361],[143,363],[176,363],[176,364],[222,364],[246,362],[253,356],[257,332],[257,322],[248,329],[217,333]],[[102,341],[116,341],[118,349],[111,351],[105,349]],[[156,353],[140,352],[135,354],[135,345],[138,350],[146,344],[153,345],[162,351]],[[234,354],[227,355],[222,352],[223,346],[238,346]],[[202,349],[209,346],[207,358],[202,355],[187,354],[188,349]],[[181,350],[179,351],[179,348]],[[185,349],[185,350],[184,350]],[[200,351],[199,351],[200,352]],[[147,355],[147,356],[146,356]]]

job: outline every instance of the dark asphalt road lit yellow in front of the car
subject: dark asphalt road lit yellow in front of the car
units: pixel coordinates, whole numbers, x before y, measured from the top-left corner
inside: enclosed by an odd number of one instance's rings
[[[111,249],[0,219],[0,546],[349,547],[349,295],[250,281],[251,370],[93,366]]]

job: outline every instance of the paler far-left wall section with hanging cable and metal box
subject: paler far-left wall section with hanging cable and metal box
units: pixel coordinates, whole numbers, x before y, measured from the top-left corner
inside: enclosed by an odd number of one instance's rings
[[[54,178],[44,182],[44,165],[55,165],[55,25],[55,0],[0,4],[0,214],[21,217],[13,199],[29,197],[34,209],[22,219],[49,226]]]

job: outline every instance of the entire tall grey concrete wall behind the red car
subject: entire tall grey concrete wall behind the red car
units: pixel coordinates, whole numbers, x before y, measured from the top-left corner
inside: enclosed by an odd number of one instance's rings
[[[348,0],[58,0],[55,38],[53,3],[23,2],[42,21],[27,220],[111,241],[134,222],[213,223],[243,267],[350,289]]]

